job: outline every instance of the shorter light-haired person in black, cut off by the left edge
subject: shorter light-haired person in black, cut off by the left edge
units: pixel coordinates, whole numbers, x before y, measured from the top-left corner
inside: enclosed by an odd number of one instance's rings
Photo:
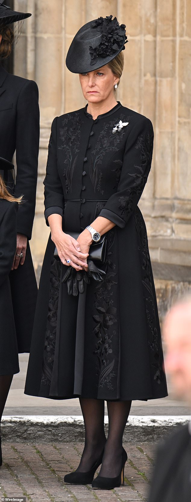
[[[8,172],[13,167],[11,162],[0,158],[0,169]],[[18,345],[9,280],[17,246],[18,202],[21,202],[21,199],[15,199],[10,195],[0,175],[0,426],[7,400],[7,388],[11,386],[13,375],[19,372]]]

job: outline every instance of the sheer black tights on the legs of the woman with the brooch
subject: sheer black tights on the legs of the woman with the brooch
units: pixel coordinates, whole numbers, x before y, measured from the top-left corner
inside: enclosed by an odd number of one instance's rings
[[[104,449],[100,475],[115,477],[121,466],[123,432],[129,416],[131,401],[107,401],[109,429],[104,432],[104,401],[80,398],[85,425],[85,446],[78,471],[90,470]]]

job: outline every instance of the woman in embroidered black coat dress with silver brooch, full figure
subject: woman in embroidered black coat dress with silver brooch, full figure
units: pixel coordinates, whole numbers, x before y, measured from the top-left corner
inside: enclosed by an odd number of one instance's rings
[[[79,397],[85,447],[65,482],[92,482],[102,463],[92,483],[100,488],[121,484],[131,400],[167,395],[146,228],[137,207],[151,167],[153,128],[115,98],[125,41],[125,26],[110,16],[82,27],[68,51],[66,64],[80,74],[88,104],[52,124],[44,182],[51,235],[25,386],[30,395]],[[107,263],[92,274],[87,257],[100,234],[107,234]]]

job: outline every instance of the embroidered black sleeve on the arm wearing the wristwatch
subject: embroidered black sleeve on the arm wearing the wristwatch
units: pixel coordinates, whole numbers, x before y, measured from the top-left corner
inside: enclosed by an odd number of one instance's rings
[[[153,138],[152,123],[142,116],[126,142],[117,192],[111,195],[99,214],[121,228],[138,204],[146,184],[152,161]]]

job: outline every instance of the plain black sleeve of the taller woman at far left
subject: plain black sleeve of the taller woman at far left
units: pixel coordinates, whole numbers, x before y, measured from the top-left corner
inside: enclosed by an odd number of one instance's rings
[[[40,136],[39,91],[36,82],[27,80],[17,102],[15,195],[24,196],[18,212],[17,231],[31,239],[35,216]]]

